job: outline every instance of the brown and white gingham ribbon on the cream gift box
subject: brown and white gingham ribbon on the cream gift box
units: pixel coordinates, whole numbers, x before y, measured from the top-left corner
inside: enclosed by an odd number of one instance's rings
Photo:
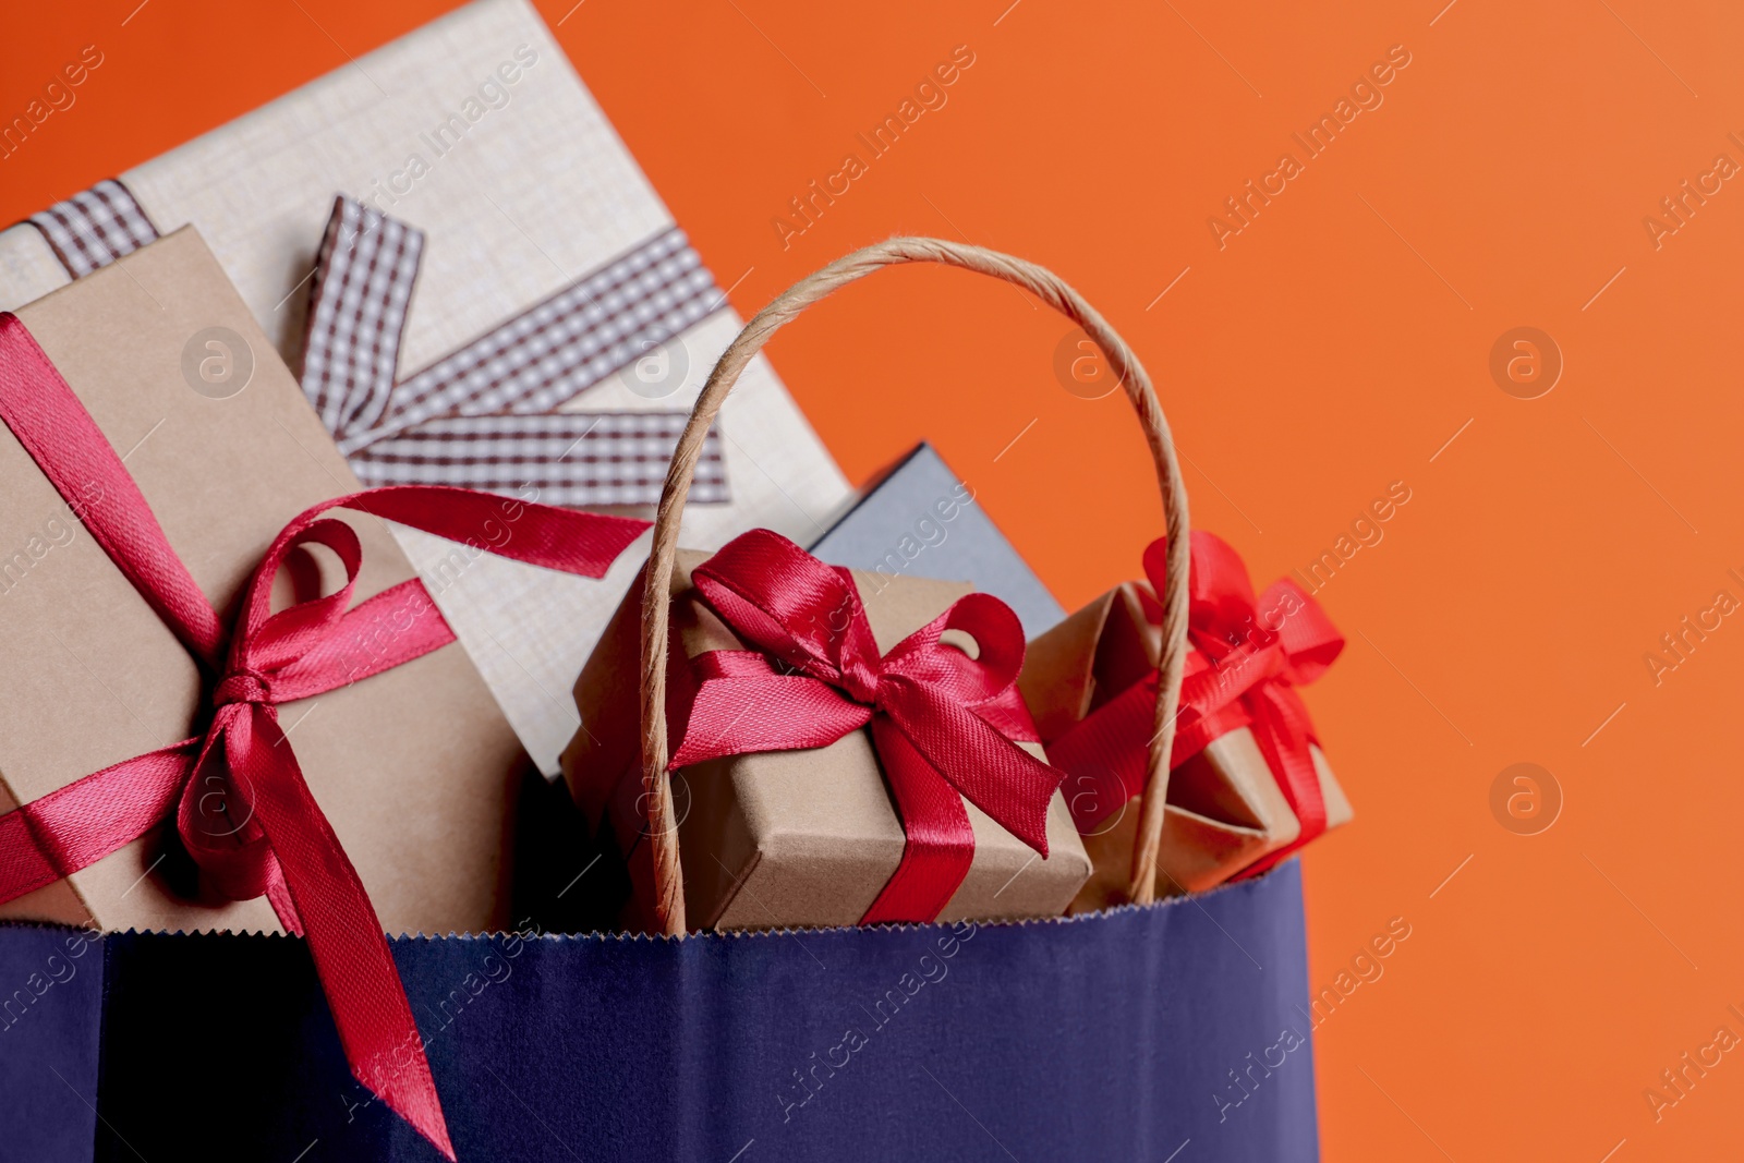
[[[75,279],[159,237],[115,180],[30,221]],[[422,230],[335,199],[316,256],[302,384],[358,476],[569,507],[657,502],[685,411],[560,408],[727,305],[684,232],[661,230],[396,382],[422,255]],[[720,434],[710,431],[691,500],[727,497]]]

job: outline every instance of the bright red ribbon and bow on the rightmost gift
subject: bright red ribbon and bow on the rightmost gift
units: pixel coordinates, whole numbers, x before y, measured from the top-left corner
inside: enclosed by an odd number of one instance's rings
[[[1163,593],[1167,541],[1144,551],[1153,593]],[[1345,649],[1345,638],[1313,598],[1289,579],[1259,598],[1240,554],[1212,534],[1193,534],[1188,574],[1188,663],[1181,685],[1175,743],[1168,765],[1179,767],[1238,727],[1249,727],[1301,832],[1242,875],[1257,875],[1325,832],[1325,802],[1310,745],[1318,739],[1298,685],[1315,682]],[[1162,605],[1144,596],[1144,612],[1162,622]],[[1080,832],[1097,826],[1144,792],[1155,729],[1158,673],[1151,671],[1095,708],[1057,739],[1048,760],[1066,771],[1067,797]]]

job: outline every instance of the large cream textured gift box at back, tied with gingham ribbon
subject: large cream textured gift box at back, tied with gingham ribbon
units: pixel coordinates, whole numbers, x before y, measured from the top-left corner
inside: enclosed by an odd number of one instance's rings
[[[105,75],[91,71],[85,85],[105,84]],[[462,5],[0,232],[0,307],[40,298],[117,251],[192,223],[272,347],[303,370],[303,387],[319,398],[324,385],[309,375],[303,343],[312,288],[323,282],[312,269],[340,194],[356,199],[354,213],[366,207],[399,223],[349,227],[363,248],[389,235],[422,241],[420,256],[392,269],[394,295],[380,303],[392,366],[364,368],[378,391],[392,387],[389,403],[431,375],[441,378],[445,361],[455,371],[450,357],[502,340],[504,328],[508,342],[520,343],[513,328],[548,307],[579,317],[598,305],[616,321],[603,331],[577,328],[570,370],[542,394],[499,391],[487,401],[497,415],[436,415],[394,439],[356,446],[349,455],[358,474],[399,483],[380,474],[426,460],[420,450],[431,446],[438,460],[443,448],[460,448],[460,460],[481,446],[535,448],[542,473],[572,469],[563,481],[534,476],[546,493],[539,499],[588,509],[624,499],[652,506],[680,413],[739,330],[722,288],[745,270],[717,272],[717,284],[525,0]],[[528,410],[549,415],[520,415]],[[589,415],[577,420],[572,411]],[[389,408],[385,427],[392,415]],[[385,427],[345,436],[368,441]],[[589,457],[595,443],[603,452]],[[752,527],[809,537],[848,495],[762,357],[727,401],[710,448],[719,460],[713,469],[705,462],[699,493],[712,490],[715,502],[689,507],[685,544],[720,546]],[[589,476],[612,464],[635,471]],[[497,467],[508,476],[452,483],[518,492],[518,469]],[[555,776],[558,752],[576,732],[562,692],[624,595],[633,554],[589,581],[492,556],[460,568],[453,546],[406,528],[394,535],[527,752]]]

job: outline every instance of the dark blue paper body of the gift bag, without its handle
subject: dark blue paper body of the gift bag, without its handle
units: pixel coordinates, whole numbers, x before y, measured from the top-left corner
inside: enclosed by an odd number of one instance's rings
[[[1318,1158],[1296,861],[1029,924],[391,945],[460,1160]],[[0,926],[0,1158],[439,1158],[300,940]]]

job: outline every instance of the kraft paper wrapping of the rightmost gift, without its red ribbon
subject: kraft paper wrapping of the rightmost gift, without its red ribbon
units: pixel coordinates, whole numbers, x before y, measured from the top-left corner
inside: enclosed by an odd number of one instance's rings
[[[1209,535],[1195,534],[1195,554],[1202,549],[1202,537]],[[1146,561],[1151,560],[1146,554]],[[1018,685],[1041,738],[1050,741],[1050,753],[1073,727],[1137,685],[1149,690],[1148,706],[1155,704],[1162,645],[1162,605],[1149,581],[1116,586],[1032,640]],[[1203,654],[1189,656],[1188,694],[1195,675],[1203,682],[1209,673]],[[1186,694],[1182,701],[1188,701]],[[1301,823],[1278,778],[1252,729],[1243,725],[1245,717],[1238,708],[1221,713],[1224,727],[1200,722],[1195,729],[1191,720],[1177,718],[1181,734],[1168,772],[1158,896],[1221,884],[1289,849],[1301,835]],[[1142,722],[1142,734],[1135,743],[1128,741],[1128,758],[1148,743],[1149,710]],[[1210,736],[1209,741],[1205,736]],[[1341,826],[1352,820],[1350,800],[1318,745],[1310,743],[1308,750],[1325,806],[1325,826]],[[1120,903],[1130,886],[1142,800],[1125,800],[1120,781],[1095,769],[1083,778],[1067,776],[1062,792],[1074,807],[1085,849],[1095,865],[1073,910]],[[1092,823],[1087,826],[1087,821]]]

